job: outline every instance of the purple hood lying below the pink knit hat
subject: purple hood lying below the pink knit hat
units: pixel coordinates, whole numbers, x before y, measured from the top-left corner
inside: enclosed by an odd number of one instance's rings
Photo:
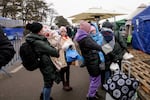
[[[88,36],[88,33],[86,31],[78,29],[74,40],[78,42],[78,41],[82,40],[83,38],[85,38],[87,36]]]

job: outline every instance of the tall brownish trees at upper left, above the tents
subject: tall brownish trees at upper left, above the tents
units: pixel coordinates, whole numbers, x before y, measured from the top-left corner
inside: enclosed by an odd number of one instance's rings
[[[0,1],[0,11],[3,17],[12,19],[22,19],[27,21],[45,21],[53,18],[56,14],[51,8],[52,3],[47,5],[43,0],[2,0]]]

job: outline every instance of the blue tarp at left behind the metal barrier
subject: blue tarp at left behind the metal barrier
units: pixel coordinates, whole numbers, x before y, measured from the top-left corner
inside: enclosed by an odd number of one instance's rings
[[[23,37],[24,28],[3,28],[3,31],[9,40],[14,40]]]

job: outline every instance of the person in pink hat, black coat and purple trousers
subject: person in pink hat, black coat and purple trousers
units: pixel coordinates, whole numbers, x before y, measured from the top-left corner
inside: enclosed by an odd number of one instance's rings
[[[90,75],[90,85],[87,93],[87,100],[98,100],[97,90],[100,86],[100,68],[98,52],[102,51],[101,46],[98,45],[89,35],[91,25],[86,21],[80,22],[75,39],[80,47],[84,64]]]

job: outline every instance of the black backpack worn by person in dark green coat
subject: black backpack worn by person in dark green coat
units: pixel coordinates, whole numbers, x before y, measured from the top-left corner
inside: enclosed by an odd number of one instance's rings
[[[25,67],[26,70],[34,71],[37,68],[39,68],[40,57],[35,52],[32,44],[24,42],[20,46],[19,54],[20,54],[20,57],[21,57],[21,60],[22,60],[22,64],[23,64],[23,66]]]

